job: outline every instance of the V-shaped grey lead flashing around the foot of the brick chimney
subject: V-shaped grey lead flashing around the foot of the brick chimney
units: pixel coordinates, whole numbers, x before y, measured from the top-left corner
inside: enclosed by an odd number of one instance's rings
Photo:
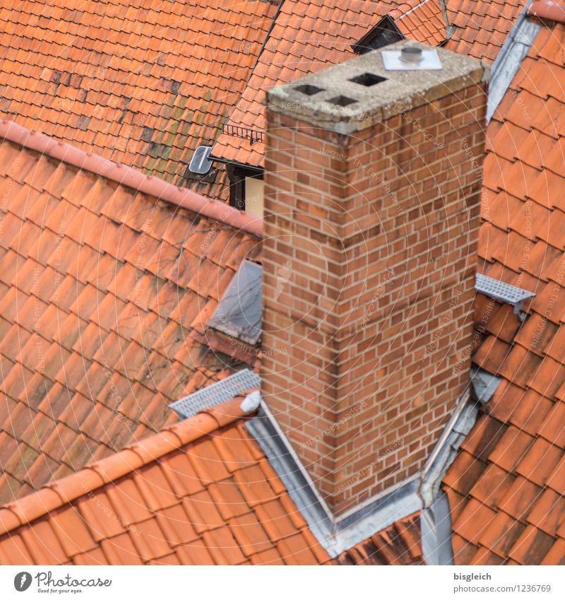
[[[403,481],[396,488],[388,488],[364,505],[337,516],[319,494],[275,417],[260,399],[260,393],[253,394],[256,394],[255,399],[259,399],[260,408],[254,418],[246,421],[245,426],[283,481],[309,529],[331,558],[420,510],[424,519],[424,559],[428,564],[453,564],[451,514],[440,487],[460,445],[477,420],[479,409],[476,392],[475,396],[471,396],[470,392],[461,396],[434,452],[420,473]]]

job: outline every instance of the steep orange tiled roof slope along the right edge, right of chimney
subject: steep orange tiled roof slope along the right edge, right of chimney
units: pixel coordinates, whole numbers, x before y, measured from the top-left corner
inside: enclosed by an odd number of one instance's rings
[[[564,47],[540,30],[489,125],[479,269],[537,295],[522,324],[477,298],[474,360],[504,381],[444,481],[458,564],[565,562]]]

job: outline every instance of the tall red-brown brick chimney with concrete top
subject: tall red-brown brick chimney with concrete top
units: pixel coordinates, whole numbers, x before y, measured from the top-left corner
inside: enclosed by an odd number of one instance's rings
[[[262,393],[334,514],[468,393],[487,71],[403,40],[268,92]]]

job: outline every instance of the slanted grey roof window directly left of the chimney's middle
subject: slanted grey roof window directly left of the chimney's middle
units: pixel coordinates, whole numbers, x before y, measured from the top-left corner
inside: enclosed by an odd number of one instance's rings
[[[261,335],[260,264],[245,260],[227,286],[208,327],[255,346]]]

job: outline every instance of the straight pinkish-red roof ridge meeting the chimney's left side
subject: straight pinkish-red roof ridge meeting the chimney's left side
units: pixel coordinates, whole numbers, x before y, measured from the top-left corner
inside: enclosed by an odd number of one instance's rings
[[[226,223],[238,230],[246,231],[258,237],[263,235],[263,219],[260,217],[238,211],[237,208],[221,201],[205,198],[188,188],[177,187],[160,179],[160,177],[145,175],[133,167],[114,163],[114,161],[102,158],[98,154],[83,151],[70,143],[57,141],[50,136],[27,129],[16,122],[7,119],[0,121],[1,139],[18,143],[24,148],[90,171],[95,175],[135,189],[137,192],[182,206],[182,208],[198,215]]]

